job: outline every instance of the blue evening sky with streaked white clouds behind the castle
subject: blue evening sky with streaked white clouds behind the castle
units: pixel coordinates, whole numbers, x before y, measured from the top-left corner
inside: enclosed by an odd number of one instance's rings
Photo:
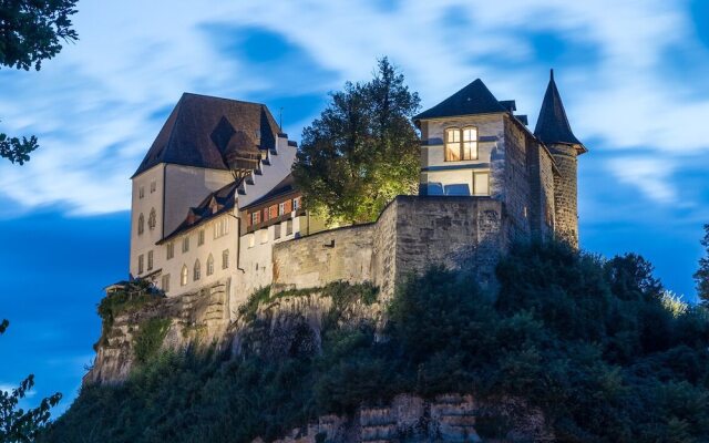
[[[0,389],[76,395],[102,288],[126,277],[130,176],[183,92],[256,101],[291,140],[328,92],[387,55],[423,109],[476,78],[534,127],[555,69],[579,158],[582,247],[635,251],[666,287],[691,275],[709,223],[705,0],[123,0],[80,2],[80,41],[40,72],[0,70]]]

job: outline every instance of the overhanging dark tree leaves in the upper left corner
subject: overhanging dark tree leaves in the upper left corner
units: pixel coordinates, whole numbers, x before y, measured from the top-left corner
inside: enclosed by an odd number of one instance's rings
[[[60,39],[79,39],[71,29],[71,16],[76,13],[76,0],[1,0],[0,65],[39,71],[42,61],[61,50]],[[39,147],[37,137],[10,137],[0,133],[0,157],[20,165]]]

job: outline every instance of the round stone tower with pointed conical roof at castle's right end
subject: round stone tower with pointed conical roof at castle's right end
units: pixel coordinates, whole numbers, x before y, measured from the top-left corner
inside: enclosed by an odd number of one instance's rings
[[[578,247],[577,157],[587,150],[568,124],[562,96],[554,82],[554,70],[534,135],[549,150],[559,171],[559,175],[554,177],[556,233],[559,238]]]

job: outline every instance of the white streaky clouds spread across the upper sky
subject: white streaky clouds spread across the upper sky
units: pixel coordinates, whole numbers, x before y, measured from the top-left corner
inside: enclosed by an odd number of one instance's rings
[[[42,144],[25,166],[0,163],[2,198],[73,214],[126,209],[129,177],[183,91],[290,104],[285,115],[297,137],[322,103],[317,96],[369,78],[384,54],[424,105],[483,78],[500,99],[517,99],[533,124],[554,64],[582,140],[667,156],[703,152],[709,91],[666,66],[668,53],[691,54],[685,59],[699,66],[695,75],[709,72],[705,34],[695,32],[685,7],[660,0],[411,0],[383,8],[373,0],[89,2],[76,17],[81,40],[42,72],[0,71],[2,130],[37,134]],[[296,97],[309,104],[294,106]],[[624,174],[617,175],[624,183],[671,202],[644,171]]]

